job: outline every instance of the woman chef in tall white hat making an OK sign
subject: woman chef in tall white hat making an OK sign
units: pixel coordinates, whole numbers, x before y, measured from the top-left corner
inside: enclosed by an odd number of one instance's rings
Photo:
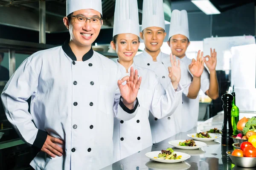
[[[114,119],[114,158],[124,159],[152,145],[151,129],[148,121],[149,111],[158,119],[171,116],[182,96],[180,81],[180,61],[171,56],[173,67],[166,79],[171,79],[164,90],[156,74],[133,63],[140,41],[140,27],[137,0],[116,0],[113,40],[111,47],[118,55],[119,71],[123,77],[135,68],[143,77],[138,92],[140,107],[137,115],[128,121]],[[176,91],[175,91],[176,90]],[[126,160],[127,161],[127,160]],[[134,165],[134,164],[133,164]],[[136,169],[137,166],[134,168]],[[134,169],[124,167],[125,169]]]

